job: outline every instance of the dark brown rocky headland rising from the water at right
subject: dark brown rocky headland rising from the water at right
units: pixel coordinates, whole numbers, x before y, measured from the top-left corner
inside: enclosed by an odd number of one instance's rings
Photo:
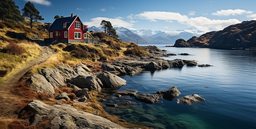
[[[192,37],[186,42],[176,40],[173,47],[207,47],[213,49],[255,49],[256,20],[244,21],[226,27],[222,31],[212,31],[200,37]]]

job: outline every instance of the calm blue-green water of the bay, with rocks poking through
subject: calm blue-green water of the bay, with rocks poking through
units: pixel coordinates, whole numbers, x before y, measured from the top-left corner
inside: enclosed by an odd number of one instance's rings
[[[189,53],[166,60],[196,60],[211,67],[170,68],[135,76],[123,76],[127,85],[121,90],[155,93],[176,86],[182,96],[193,93],[206,100],[191,105],[159,99],[163,103],[145,104],[134,97],[116,98],[132,101],[128,107],[105,107],[106,111],[127,122],[159,129],[256,129],[256,51],[175,48],[156,45],[168,53]],[[207,88],[205,88],[207,87]],[[113,96],[113,95],[111,95]]]

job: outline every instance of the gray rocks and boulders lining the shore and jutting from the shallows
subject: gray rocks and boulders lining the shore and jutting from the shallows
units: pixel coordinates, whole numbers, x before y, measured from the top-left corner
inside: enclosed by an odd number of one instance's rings
[[[72,93],[75,97],[68,93],[61,93],[55,97],[55,100],[59,102],[74,101],[73,105],[45,105],[38,100],[31,101],[23,110],[23,113],[33,111],[35,113],[34,118],[31,118],[31,124],[37,124],[43,120],[49,120],[52,127],[60,128],[124,128],[119,127],[115,123],[109,120],[102,120],[100,116],[97,116],[96,110],[94,116],[92,114],[81,113],[77,109],[71,109],[75,105],[84,105],[86,100],[90,98],[89,91],[97,91],[102,93],[102,89],[116,89],[123,85],[126,85],[126,80],[119,76],[129,75],[134,76],[143,70],[155,71],[158,69],[168,69],[171,67],[182,68],[184,65],[196,66],[197,62],[194,60],[164,60],[163,56],[170,56],[174,54],[167,54],[166,51],[160,50],[155,46],[143,47],[148,49],[150,55],[148,56],[133,56],[127,55],[127,58],[109,61],[102,61],[100,63],[102,71],[92,72],[85,64],[77,64],[74,67],[70,67],[67,64],[58,65],[56,69],[45,68],[40,69],[37,74],[34,74],[29,78],[31,83],[30,87],[35,89],[37,93],[44,92],[49,96],[54,96],[54,89],[59,88],[62,85],[71,87]],[[172,87],[165,91],[158,91],[155,94],[136,94],[137,91],[119,91],[115,93],[117,97],[132,96],[136,100],[145,103],[161,102],[158,98],[165,98],[172,100],[180,95],[180,91],[177,87]],[[97,98],[99,102],[105,102],[103,98]],[[204,100],[198,95],[190,95],[179,98],[178,102],[190,105],[193,102],[199,102]],[[85,104],[86,105],[86,104]],[[116,107],[117,104],[106,104],[106,106]],[[70,111],[67,111],[70,110]],[[74,111],[73,111],[74,110]],[[93,110],[93,109],[92,109]],[[48,115],[51,114],[51,115]],[[86,114],[86,115],[85,115]],[[80,115],[92,117],[87,119],[79,117]],[[98,119],[98,121],[95,121]]]

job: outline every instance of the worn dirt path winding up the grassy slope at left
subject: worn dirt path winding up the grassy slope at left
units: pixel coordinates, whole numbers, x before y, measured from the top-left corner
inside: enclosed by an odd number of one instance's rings
[[[9,80],[6,80],[0,83],[0,120],[8,119],[15,120],[17,119],[17,115],[15,112],[15,104],[20,100],[19,96],[15,96],[11,93],[11,88],[16,82],[18,82],[19,78],[23,76],[31,67],[36,64],[40,64],[45,62],[50,56],[52,56],[55,52],[47,47],[41,46],[41,51],[39,53],[38,58],[31,60],[23,69],[14,73]]]

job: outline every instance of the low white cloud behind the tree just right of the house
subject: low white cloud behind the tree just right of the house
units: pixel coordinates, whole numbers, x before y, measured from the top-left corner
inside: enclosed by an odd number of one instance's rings
[[[90,22],[83,22],[84,24],[88,25],[89,27],[95,26],[99,27],[102,20],[109,21],[113,27],[132,27],[132,23],[126,22],[120,18],[104,18],[104,17],[97,17],[90,19]]]

